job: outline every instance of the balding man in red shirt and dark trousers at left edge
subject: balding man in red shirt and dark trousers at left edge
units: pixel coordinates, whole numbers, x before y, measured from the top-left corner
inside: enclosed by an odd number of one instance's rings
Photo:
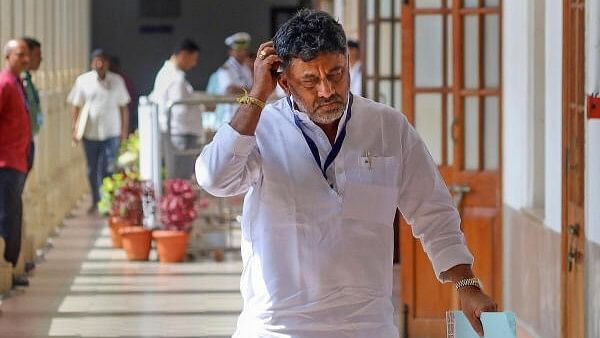
[[[0,236],[6,244],[4,258],[15,266],[21,251],[21,194],[31,147],[31,121],[20,77],[29,65],[27,43],[9,41],[4,57],[6,66],[0,72]],[[13,286],[27,285],[27,278],[13,277]]]

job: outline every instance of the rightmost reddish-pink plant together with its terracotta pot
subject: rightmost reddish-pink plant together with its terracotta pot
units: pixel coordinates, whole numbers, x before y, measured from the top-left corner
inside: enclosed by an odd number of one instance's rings
[[[152,237],[161,262],[180,262],[187,250],[190,225],[197,216],[197,194],[188,180],[169,179],[164,187],[158,203],[162,230],[154,231]]]

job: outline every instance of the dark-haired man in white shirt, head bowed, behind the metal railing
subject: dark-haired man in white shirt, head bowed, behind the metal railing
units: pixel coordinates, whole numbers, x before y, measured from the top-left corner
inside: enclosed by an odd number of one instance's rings
[[[198,63],[200,48],[190,39],[181,41],[156,74],[150,100],[159,106],[159,123],[163,138],[163,152],[169,178],[186,178],[193,175],[195,156],[177,155],[177,151],[200,148],[202,142],[202,107],[175,105],[169,121],[171,102],[189,98],[194,88],[185,79],[185,72]],[[170,139],[169,139],[170,135]]]

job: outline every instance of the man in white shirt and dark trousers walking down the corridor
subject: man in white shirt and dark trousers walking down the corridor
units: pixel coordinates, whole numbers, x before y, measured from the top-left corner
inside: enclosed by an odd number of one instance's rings
[[[76,122],[85,104],[89,115],[83,133],[83,146],[87,160],[87,173],[92,189],[92,206],[96,211],[100,200],[102,179],[114,170],[119,141],[128,134],[131,100],[123,78],[108,71],[109,57],[101,49],[91,55],[92,70],[77,77],[67,101],[72,105],[72,134],[76,137]],[[86,108],[87,109],[87,108]]]

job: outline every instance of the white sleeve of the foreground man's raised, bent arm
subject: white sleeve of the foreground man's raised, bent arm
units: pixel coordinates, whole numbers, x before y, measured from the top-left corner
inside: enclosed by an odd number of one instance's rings
[[[241,135],[229,124],[219,129],[196,160],[198,184],[219,197],[245,193],[260,175],[256,137]]]

